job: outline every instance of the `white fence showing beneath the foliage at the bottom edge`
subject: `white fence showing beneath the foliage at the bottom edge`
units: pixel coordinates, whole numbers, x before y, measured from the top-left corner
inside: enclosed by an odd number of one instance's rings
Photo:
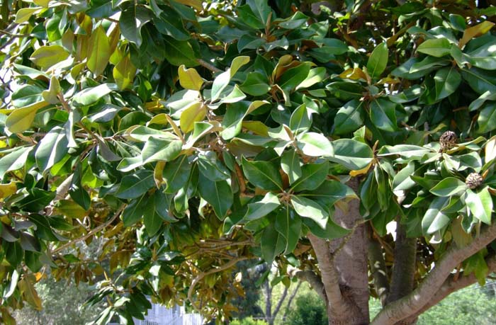
[[[201,325],[203,318],[200,314],[186,314],[184,307],[175,306],[166,308],[159,304],[152,304],[148,309],[145,320],[135,319],[136,325]]]

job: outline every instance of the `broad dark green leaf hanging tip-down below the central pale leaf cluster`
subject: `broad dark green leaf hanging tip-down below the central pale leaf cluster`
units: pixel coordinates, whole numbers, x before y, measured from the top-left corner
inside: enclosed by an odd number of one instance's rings
[[[212,205],[215,215],[224,219],[233,202],[230,184],[227,181],[213,182],[200,174],[198,191],[201,198]]]

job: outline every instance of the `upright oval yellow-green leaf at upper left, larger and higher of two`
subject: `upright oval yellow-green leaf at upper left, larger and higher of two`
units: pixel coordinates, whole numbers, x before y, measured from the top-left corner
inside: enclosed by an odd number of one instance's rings
[[[89,71],[99,76],[105,70],[108,59],[112,55],[110,41],[101,25],[91,34],[89,46],[89,57],[86,64]]]

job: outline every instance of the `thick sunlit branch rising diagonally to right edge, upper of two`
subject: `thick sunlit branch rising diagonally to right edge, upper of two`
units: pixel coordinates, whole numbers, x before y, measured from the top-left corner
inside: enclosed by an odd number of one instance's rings
[[[496,239],[496,224],[485,228],[478,238],[465,247],[458,248],[451,244],[450,248],[436,262],[436,266],[424,278],[422,283],[410,295],[388,304],[371,325],[393,325],[402,319],[417,314],[424,307],[429,297],[436,295],[441,285],[449,277],[453,268],[473,254],[483,249],[487,244]]]

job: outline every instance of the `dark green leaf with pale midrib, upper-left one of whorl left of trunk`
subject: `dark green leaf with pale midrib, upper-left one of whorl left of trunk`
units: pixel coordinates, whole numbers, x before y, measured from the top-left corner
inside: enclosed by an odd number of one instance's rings
[[[243,158],[243,172],[248,181],[264,190],[283,190],[278,167],[269,161],[248,161]]]

